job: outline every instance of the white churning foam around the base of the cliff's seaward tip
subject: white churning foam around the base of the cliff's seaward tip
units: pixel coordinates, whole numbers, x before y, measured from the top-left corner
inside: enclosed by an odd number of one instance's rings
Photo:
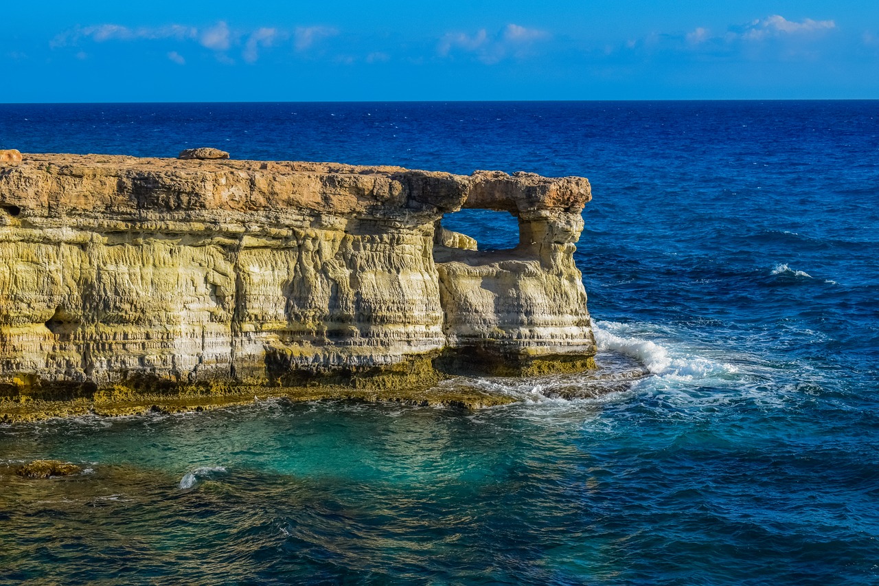
[[[770,382],[775,366],[741,349],[701,343],[693,331],[670,325],[595,321],[592,327],[601,367],[596,373],[473,377],[464,384],[516,397],[519,406],[538,407],[497,409],[544,424],[570,422],[572,414],[591,417],[599,413],[596,407],[624,406],[634,398],[640,398],[642,407],[675,418],[698,417],[741,402],[770,409],[792,404],[788,393]],[[460,384],[451,380],[440,385]],[[490,421],[492,411],[480,411],[478,418]]]

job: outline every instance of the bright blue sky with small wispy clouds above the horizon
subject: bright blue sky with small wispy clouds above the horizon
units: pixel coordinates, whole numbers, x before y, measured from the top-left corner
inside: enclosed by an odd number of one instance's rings
[[[0,101],[879,98],[879,2],[41,2]]]

